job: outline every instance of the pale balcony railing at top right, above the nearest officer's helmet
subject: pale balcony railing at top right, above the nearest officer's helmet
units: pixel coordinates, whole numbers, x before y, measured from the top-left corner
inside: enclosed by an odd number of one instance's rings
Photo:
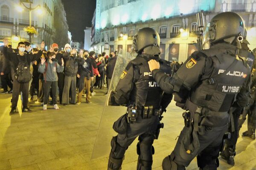
[[[256,2],[253,3],[222,3],[221,11],[255,12]]]

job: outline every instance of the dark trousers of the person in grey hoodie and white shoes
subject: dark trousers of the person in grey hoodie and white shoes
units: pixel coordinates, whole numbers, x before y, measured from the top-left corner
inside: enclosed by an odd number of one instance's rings
[[[54,81],[54,82],[44,81],[44,105],[48,103],[50,91],[52,91],[53,105],[57,104],[57,88],[58,88],[58,81]]]

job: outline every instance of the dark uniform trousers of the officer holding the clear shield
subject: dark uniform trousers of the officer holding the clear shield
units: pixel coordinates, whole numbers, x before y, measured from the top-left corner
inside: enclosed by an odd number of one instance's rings
[[[121,118],[127,119],[126,116]],[[139,136],[137,144],[137,153],[139,155],[137,170],[151,170],[152,154],[154,154],[152,144],[157,133],[158,124],[159,118],[157,116],[152,116],[150,119],[142,119],[139,116],[136,122],[128,123],[126,132],[123,134],[118,133],[111,141],[108,168],[116,170],[121,167],[125,150]]]

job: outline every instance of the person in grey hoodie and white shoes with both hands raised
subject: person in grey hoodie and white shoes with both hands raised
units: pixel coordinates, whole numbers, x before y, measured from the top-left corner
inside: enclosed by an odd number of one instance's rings
[[[52,49],[53,50],[53,49]],[[41,58],[41,64],[38,67],[38,71],[44,74],[44,106],[43,110],[47,110],[47,103],[49,99],[50,89],[52,89],[52,102],[54,109],[59,109],[57,105],[57,88],[58,88],[58,76],[57,72],[64,70],[64,61],[61,59],[61,66],[58,64],[55,58],[54,52],[48,51],[45,58]]]

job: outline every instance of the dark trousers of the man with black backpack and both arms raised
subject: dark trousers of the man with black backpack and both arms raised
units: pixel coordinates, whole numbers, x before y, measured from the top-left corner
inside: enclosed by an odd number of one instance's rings
[[[17,107],[20,91],[22,92],[23,97],[23,108],[28,107],[29,100],[29,82],[18,82],[16,79],[13,81],[12,89],[12,108]]]

